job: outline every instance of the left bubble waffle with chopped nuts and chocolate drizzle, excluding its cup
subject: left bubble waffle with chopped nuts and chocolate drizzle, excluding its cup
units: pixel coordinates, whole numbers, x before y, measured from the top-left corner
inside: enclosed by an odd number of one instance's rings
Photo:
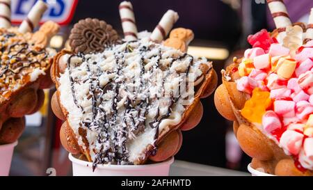
[[[47,25],[55,26],[56,30],[51,31],[45,29],[45,27],[47,28]],[[49,69],[51,68],[53,61],[53,56],[51,55],[54,54],[54,50],[46,49],[45,47],[47,46],[47,43],[38,42],[39,38],[33,38],[35,35],[41,35],[40,33],[42,33],[42,31],[45,31],[45,33],[49,33],[49,35],[52,36],[58,31],[58,25],[52,22],[47,22],[47,24],[44,24],[36,33],[19,33],[17,28],[0,29],[3,39],[2,47],[3,45],[5,46],[3,49],[15,46],[10,49],[10,53],[6,52],[6,50],[1,52],[3,54],[8,53],[8,60],[6,60],[6,55],[2,54],[3,64],[1,64],[2,77],[0,83],[0,144],[12,143],[19,138],[25,125],[24,115],[35,113],[40,109],[45,97],[42,89],[49,88],[53,84],[49,76]],[[42,35],[45,35],[45,33],[42,33]],[[3,37],[8,35],[14,36]],[[49,36],[46,35],[44,38],[47,40],[49,39]],[[40,57],[40,54],[45,54],[45,57]],[[17,58],[14,58],[15,56]],[[21,59],[21,61],[19,61],[19,59]],[[28,61],[22,63],[25,61],[24,59],[27,59]],[[32,65],[27,66],[27,63]],[[6,70],[6,64],[9,70]],[[15,64],[19,66],[14,69],[11,68],[15,67]],[[15,74],[10,70],[17,73]],[[35,73],[36,70],[40,73]],[[35,74],[35,76],[32,76],[32,74]],[[12,123],[14,123],[14,125],[12,125]]]

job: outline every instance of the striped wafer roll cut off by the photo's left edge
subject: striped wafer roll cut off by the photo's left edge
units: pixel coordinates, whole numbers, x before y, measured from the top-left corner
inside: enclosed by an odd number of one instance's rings
[[[11,0],[0,0],[0,28],[11,26]]]

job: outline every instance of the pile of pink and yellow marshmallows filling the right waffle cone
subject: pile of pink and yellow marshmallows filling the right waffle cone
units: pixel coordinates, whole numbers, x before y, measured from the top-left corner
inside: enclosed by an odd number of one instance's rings
[[[272,105],[259,123],[262,132],[303,168],[313,170],[313,40],[296,54],[275,40],[266,48],[253,46],[238,71],[238,90],[253,95],[260,88],[270,93]]]

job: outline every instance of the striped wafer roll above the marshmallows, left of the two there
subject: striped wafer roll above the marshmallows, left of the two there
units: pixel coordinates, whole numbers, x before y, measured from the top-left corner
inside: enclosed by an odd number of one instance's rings
[[[284,6],[284,1],[282,0],[267,0],[267,3],[268,8],[271,10],[276,29],[278,29],[277,40],[282,43],[284,36],[286,36],[286,27],[291,26],[287,8]]]

